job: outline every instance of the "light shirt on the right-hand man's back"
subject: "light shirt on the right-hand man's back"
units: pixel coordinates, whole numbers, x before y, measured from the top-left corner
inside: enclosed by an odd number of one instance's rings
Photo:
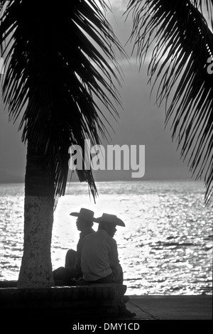
[[[85,281],[97,281],[119,266],[115,239],[105,230],[97,230],[82,241],[81,268]]]

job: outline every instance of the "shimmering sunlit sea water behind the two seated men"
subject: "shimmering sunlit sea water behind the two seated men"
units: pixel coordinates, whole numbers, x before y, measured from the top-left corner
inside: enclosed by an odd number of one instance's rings
[[[212,294],[212,222],[204,187],[195,181],[98,182],[94,203],[82,183],[67,185],[54,214],[53,269],[76,249],[79,232],[70,212],[115,214],[126,227],[114,238],[127,293]],[[0,185],[0,279],[18,279],[23,253],[23,184]],[[97,225],[94,223],[94,230]]]

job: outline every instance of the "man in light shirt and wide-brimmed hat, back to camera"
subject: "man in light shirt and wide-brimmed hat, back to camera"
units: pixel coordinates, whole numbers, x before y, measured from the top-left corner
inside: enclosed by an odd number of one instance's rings
[[[123,284],[123,271],[119,263],[116,240],[113,239],[116,225],[125,224],[116,215],[104,213],[96,219],[99,222],[97,232],[87,235],[82,240],[81,268],[84,281],[89,283]],[[124,300],[119,305],[119,317],[136,316],[126,310]]]

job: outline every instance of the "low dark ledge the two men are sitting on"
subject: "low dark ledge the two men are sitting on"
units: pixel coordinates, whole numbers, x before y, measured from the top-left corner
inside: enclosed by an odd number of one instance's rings
[[[55,286],[50,289],[17,289],[0,284],[1,316],[24,316],[31,319],[62,320],[116,319],[118,305],[126,292],[121,284]]]

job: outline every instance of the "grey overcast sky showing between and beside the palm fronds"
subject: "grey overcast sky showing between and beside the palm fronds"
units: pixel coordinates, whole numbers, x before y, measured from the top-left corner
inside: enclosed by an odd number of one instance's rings
[[[116,36],[124,45],[131,33],[131,16],[125,22],[124,9],[128,1],[111,1],[113,15],[107,17]],[[190,178],[186,163],[180,161],[177,145],[171,140],[170,129],[164,129],[165,107],[155,106],[154,95],[150,99],[151,87],[147,85],[147,64],[139,72],[136,56],[131,56],[133,43],[125,47],[129,62],[118,55],[124,72],[124,82],[119,88],[123,109],[118,107],[120,119],[114,122],[115,134],[111,132],[109,144],[145,145],[146,178]],[[24,175],[26,146],[21,142],[18,123],[9,123],[8,114],[0,100],[0,171]],[[99,179],[129,178],[129,171],[102,171],[95,174]]]

